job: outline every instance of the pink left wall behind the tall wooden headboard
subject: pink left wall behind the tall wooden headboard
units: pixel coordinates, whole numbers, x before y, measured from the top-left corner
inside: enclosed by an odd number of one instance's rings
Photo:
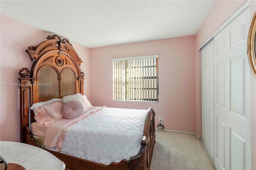
[[[46,40],[47,32],[38,30],[1,15],[1,63],[0,83],[19,83],[18,71],[22,67],[31,69],[32,62],[26,49]],[[81,69],[90,75],[89,49],[73,43],[74,49],[84,61]],[[88,78],[89,77],[89,78]],[[90,97],[90,76],[86,77],[84,91]],[[20,140],[20,91],[19,87],[0,87],[0,140]]]

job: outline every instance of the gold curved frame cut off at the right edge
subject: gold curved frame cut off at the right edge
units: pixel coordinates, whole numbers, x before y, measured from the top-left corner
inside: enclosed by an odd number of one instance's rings
[[[252,18],[247,42],[247,53],[250,67],[256,77],[256,12]]]

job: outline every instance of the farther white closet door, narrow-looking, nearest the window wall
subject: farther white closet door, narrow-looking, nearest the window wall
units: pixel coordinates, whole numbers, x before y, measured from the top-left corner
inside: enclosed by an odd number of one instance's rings
[[[214,161],[214,41],[202,53],[202,142]]]

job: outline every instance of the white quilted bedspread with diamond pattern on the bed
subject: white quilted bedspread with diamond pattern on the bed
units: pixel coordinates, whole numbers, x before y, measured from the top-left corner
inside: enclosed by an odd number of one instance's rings
[[[103,108],[70,127],[62,152],[101,164],[138,154],[147,110]]]

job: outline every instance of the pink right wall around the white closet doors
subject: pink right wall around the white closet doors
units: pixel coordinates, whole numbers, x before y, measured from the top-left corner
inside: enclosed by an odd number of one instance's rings
[[[202,136],[201,124],[201,51],[198,47],[206,41],[246,0],[218,1],[196,33],[196,134]],[[256,1],[250,1],[251,19],[256,11]],[[251,93],[251,156],[252,169],[256,170],[256,78],[250,75]]]

